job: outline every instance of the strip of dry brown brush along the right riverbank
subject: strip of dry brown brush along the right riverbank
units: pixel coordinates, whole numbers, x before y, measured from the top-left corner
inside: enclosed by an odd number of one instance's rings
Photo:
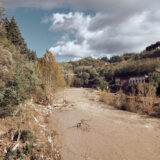
[[[99,101],[117,109],[150,116],[160,116],[160,98],[127,96],[121,91],[117,94],[103,91],[100,93]]]

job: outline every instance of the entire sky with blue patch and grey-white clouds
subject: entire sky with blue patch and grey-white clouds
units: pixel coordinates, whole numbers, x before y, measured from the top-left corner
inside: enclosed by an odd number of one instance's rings
[[[159,0],[0,0],[28,46],[58,60],[140,52],[160,40]]]

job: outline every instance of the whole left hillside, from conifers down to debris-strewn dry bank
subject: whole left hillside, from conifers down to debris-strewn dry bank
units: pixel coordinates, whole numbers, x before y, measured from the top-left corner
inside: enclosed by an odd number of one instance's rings
[[[42,126],[55,92],[64,86],[52,53],[47,50],[38,59],[27,47],[15,18],[9,21],[0,6],[0,159],[60,158],[48,141],[53,131]]]

